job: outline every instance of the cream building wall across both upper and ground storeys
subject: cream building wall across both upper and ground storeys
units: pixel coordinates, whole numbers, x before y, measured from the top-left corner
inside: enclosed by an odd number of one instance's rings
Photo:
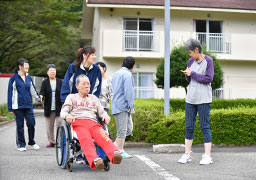
[[[140,15],[138,15],[138,12]],[[154,31],[160,31],[160,52],[123,52],[122,30],[124,17],[154,18]],[[171,11],[171,47],[194,38],[195,19],[224,21],[223,32],[231,33],[231,54],[216,54],[224,71],[225,98],[255,98],[256,58],[256,14],[207,11]],[[134,72],[156,73],[157,65],[164,57],[164,11],[152,9],[96,8],[94,12],[93,45],[97,49],[97,61],[108,67],[113,76],[125,56],[131,55],[139,65]],[[250,62],[251,61],[251,62]],[[252,82],[252,83],[251,83]],[[240,90],[238,90],[238,87]],[[241,88],[244,87],[242,90]],[[155,88],[157,98],[163,91]],[[183,88],[173,88],[171,97],[185,97]]]

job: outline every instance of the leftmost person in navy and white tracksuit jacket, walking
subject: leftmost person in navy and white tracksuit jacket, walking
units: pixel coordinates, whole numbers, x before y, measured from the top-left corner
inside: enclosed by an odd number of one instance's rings
[[[27,122],[29,142],[28,145],[38,150],[40,147],[34,141],[35,117],[33,113],[32,96],[40,101],[35,85],[28,75],[28,60],[20,58],[17,62],[17,70],[11,76],[8,86],[8,110],[15,114],[17,125],[16,143],[19,151],[26,151],[24,137],[24,118]]]

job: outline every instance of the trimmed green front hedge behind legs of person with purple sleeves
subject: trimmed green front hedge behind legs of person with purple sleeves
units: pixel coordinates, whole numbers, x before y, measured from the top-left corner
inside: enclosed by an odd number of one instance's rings
[[[236,108],[217,109],[210,114],[211,131],[214,144],[255,144],[256,109]],[[134,119],[135,120],[135,119]],[[136,121],[136,120],[135,120]],[[162,117],[147,130],[147,142],[184,143],[185,113],[175,112],[169,117]],[[197,117],[194,143],[203,143]]]

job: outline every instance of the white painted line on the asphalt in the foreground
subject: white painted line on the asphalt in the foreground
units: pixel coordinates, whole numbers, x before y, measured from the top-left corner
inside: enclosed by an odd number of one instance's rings
[[[144,161],[149,167],[151,167],[157,174],[163,176],[166,180],[180,180],[178,177],[168,173],[164,168],[162,168],[159,164],[156,164],[150,158],[145,155],[135,155],[140,160]]]

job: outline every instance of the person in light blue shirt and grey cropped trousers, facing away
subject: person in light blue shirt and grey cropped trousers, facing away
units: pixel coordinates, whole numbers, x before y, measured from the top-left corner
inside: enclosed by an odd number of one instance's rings
[[[115,72],[112,78],[113,99],[112,114],[115,116],[117,138],[115,145],[120,150],[123,158],[131,158],[123,147],[126,136],[132,135],[133,122],[131,114],[134,113],[134,79],[132,71],[135,60],[133,57],[126,57],[120,70]]]

